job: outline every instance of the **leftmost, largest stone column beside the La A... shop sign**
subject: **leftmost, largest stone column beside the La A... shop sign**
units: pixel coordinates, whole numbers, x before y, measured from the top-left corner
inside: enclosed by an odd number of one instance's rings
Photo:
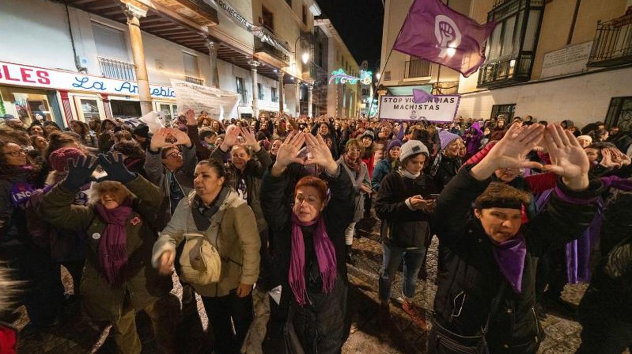
[[[130,30],[131,54],[134,57],[136,70],[136,82],[138,85],[138,99],[140,112],[143,116],[153,111],[152,96],[149,93],[149,78],[147,78],[147,66],[145,65],[145,51],[143,50],[143,38],[140,33],[140,18],[147,15],[147,9],[138,8],[131,4],[123,4],[123,11],[127,16],[127,25]]]

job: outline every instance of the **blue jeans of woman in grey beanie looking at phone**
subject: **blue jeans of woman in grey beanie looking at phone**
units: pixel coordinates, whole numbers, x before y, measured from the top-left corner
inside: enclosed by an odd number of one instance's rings
[[[407,298],[415,296],[417,274],[422,268],[425,248],[404,248],[382,243],[382,268],[380,269],[380,300],[391,298],[391,288],[395,273],[404,260],[404,281],[402,292]]]

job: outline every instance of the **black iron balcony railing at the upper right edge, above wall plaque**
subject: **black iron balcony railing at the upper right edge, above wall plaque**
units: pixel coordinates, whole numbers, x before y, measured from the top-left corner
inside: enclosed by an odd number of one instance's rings
[[[632,10],[614,20],[597,22],[590,58],[586,66],[632,63]]]

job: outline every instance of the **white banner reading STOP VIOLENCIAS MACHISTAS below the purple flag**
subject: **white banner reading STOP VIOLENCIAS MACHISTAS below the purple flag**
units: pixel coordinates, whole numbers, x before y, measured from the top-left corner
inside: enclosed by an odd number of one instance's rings
[[[459,95],[437,95],[434,101],[415,103],[413,96],[380,97],[380,119],[451,122],[459,108]]]

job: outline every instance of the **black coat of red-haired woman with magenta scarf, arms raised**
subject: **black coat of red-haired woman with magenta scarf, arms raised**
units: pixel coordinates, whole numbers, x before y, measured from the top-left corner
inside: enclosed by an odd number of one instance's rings
[[[305,277],[307,296],[312,301],[312,305],[301,308],[296,304],[288,282],[292,250],[291,215],[293,212],[289,202],[291,198],[288,198],[286,191],[289,189],[290,183],[295,183],[296,174],[303,176],[307,173],[302,166],[291,164],[286,172],[279,177],[272,176],[269,172],[265,173],[261,185],[261,203],[270,232],[274,235],[275,243],[272,273],[274,274],[273,278],[276,279],[272,279],[272,286],[282,285],[281,314],[286,314],[288,308],[294,309],[292,322],[296,327],[302,349],[306,353],[315,353],[315,348],[319,348],[319,353],[339,353],[350,327],[350,322],[345,320],[348,279],[347,267],[344,262],[346,252],[344,230],[351,223],[353,217],[355,193],[349,175],[344,173],[341,168],[339,168],[339,174],[336,177],[322,175],[331,190],[331,199],[322,211],[322,217],[324,217],[327,235],[336,249],[337,281],[334,289],[327,294],[310,286],[312,281],[308,279],[313,279],[314,275],[318,277],[319,274],[317,273],[318,265],[314,265],[316,256],[313,246],[306,243],[305,250],[309,254],[306,255]],[[303,236],[306,240],[312,239],[311,235],[310,229],[303,228]],[[310,259],[312,262],[309,262]],[[283,318],[281,314],[278,317]],[[308,331],[308,329],[315,328],[318,328],[319,333],[317,334],[319,336],[315,336],[313,331]],[[322,338],[322,336],[326,338]],[[334,343],[332,344],[332,342]],[[333,350],[322,348],[327,345],[330,345],[329,349],[333,348]]]

